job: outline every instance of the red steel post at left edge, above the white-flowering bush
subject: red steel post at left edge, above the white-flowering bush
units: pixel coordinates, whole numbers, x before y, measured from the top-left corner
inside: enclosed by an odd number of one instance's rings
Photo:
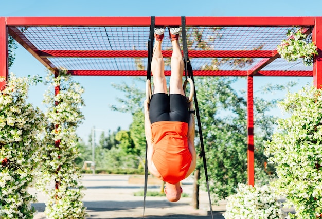
[[[0,77],[6,79],[0,82],[0,90],[2,90],[8,80],[8,28],[5,17],[0,17]]]

